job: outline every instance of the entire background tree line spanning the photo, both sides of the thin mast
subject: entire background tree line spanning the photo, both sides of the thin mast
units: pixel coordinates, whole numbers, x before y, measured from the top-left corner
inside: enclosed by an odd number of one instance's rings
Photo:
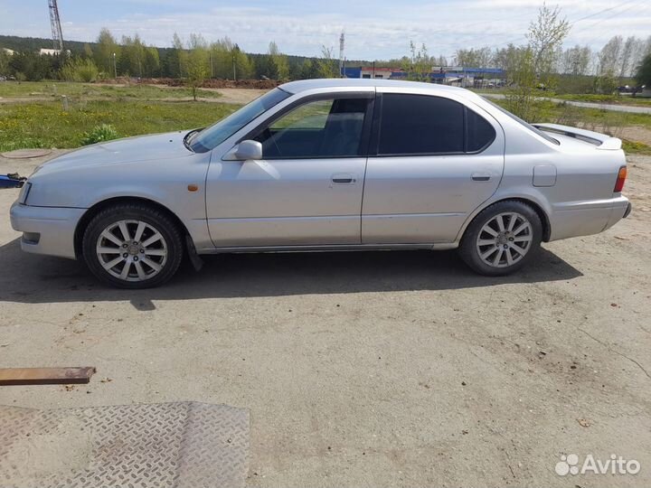
[[[439,67],[486,67],[505,70],[506,80],[514,88],[534,85],[568,93],[612,93],[618,84],[630,82],[631,76],[643,72],[643,60],[651,55],[651,36],[625,39],[617,35],[599,51],[587,45],[563,49],[569,32],[561,10],[543,5],[530,24],[524,44],[459,49],[448,59],[429,55],[425,44],[417,47],[410,42],[409,52],[402,58],[374,62],[405,70],[411,80],[429,80],[429,71]],[[17,80],[177,78],[184,79],[194,91],[205,79],[282,81],[339,76],[333,49],[325,46],[313,58],[284,54],[276,42],[269,42],[268,52],[255,54],[242,51],[228,37],[207,42],[201,34],[191,34],[187,40],[174,34],[171,47],[159,48],[147,45],[138,34],[118,40],[108,29],[102,29],[96,42],[66,42],[70,54],[39,55],[39,47],[47,42],[0,36],[0,46],[15,51],[9,55],[0,49],[0,75]],[[349,66],[372,63],[347,61]],[[639,84],[646,82],[644,76],[637,78]]]

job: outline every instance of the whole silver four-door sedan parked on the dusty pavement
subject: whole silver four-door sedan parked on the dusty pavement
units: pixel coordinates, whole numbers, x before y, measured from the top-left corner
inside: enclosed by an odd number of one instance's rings
[[[206,110],[209,110],[206,107]],[[91,145],[39,167],[11,209],[28,252],[143,288],[184,253],[459,249],[505,275],[541,241],[631,209],[621,141],[531,126],[466,89],[304,80],[211,127]]]

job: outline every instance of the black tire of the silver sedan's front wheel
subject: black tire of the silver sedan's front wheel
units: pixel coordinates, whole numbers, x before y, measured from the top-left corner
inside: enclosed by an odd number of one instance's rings
[[[101,238],[102,232],[109,229],[112,225],[117,225],[119,221],[129,221],[127,226],[129,230],[127,233],[133,235],[137,231],[134,231],[133,226],[137,226],[137,222],[144,222],[146,224],[145,232],[149,232],[148,235],[156,234],[156,231],[160,234],[161,238],[158,239],[158,242],[152,244],[152,246],[158,246],[159,249],[152,249],[160,251],[159,254],[165,253],[165,257],[150,257],[148,258],[145,249],[140,249],[139,252],[143,254],[138,254],[137,246],[129,247],[124,249],[125,252],[122,256],[127,256],[127,259],[138,260],[139,267],[136,269],[136,263],[131,262],[129,264],[129,269],[127,269],[127,279],[122,279],[118,274],[120,269],[117,263],[114,267],[109,269],[105,268],[108,266],[110,259],[108,258],[111,255],[115,255],[116,258],[119,258],[120,254],[112,252],[106,255],[99,256],[97,247],[99,242],[107,242],[110,246],[116,246],[115,249],[120,249],[124,247],[118,246],[116,243],[111,243],[109,240]],[[136,222],[133,222],[136,221]],[[122,233],[115,232],[113,233],[114,237],[121,236]],[[141,234],[141,239],[145,243],[145,238],[147,234]],[[154,286],[163,285],[166,281],[172,278],[176,270],[181,264],[181,260],[184,257],[184,245],[183,245],[183,234],[178,228],[176,222],[169,217],[165,211],[157,210],[156,208],[150,207],[143,203],[119,203],[109,208],[106,208],[102,211],[99,211],[92,220],[89,222],[86,230],[84,230],[82,238],[82,251],[83,259],[86,263],[86,266],[89,267],[90,272],[98,277],[98,279],[111,286],[117,286],[118,288],[127,288],[127,289],[142,289],[142,288],[151,288]],[[118,239],[120,239],[118,237]],[[134,244],[137,245],[137,241],[134,241]],[[102,244],[103,245],[103,244]],[[132,254],[133,251],[133,254]],[[102,261],[104,259],[104,261]],[[123,259],[124,264],[122,269],[127,264],[127,259]],[[157,268],[150,266],[147,263],[154,262]],[[140,277],[140,272],[145,271],[143,277]],[[146,273],[150,273],[151,277]],[[137,275],[137,276],[133,276]]]

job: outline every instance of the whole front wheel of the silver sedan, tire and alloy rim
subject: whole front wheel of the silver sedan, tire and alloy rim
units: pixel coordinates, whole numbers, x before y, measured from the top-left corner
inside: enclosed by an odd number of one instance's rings
[[[104,283],[121,288],[159,286],[174,276],[183,240],[165,212],[143,204],[100,211],[83,235],[83,258]]]

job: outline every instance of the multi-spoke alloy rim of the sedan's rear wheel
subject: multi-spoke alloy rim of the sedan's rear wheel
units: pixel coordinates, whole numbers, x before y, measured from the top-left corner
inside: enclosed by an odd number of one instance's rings
[[[479,230],[476,250],[490,267],[509,267],[519,262],[532,247],[533,227],[523,214],[498,213]]]

